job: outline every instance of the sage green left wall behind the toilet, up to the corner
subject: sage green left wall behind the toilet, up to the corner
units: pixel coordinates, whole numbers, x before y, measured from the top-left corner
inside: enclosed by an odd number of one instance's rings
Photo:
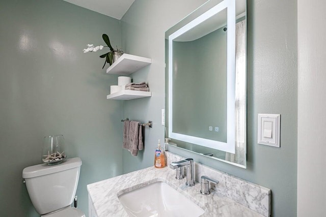
[[[120,42],[120,21],[64,1],[0,1],[1,216],[38,216],[22,169],[41,163],[43,136],[63,134],[68,158],[83,161],[78,207],[88,213],[86,185],[122,173],[121,102],[108,101],[117,76],[103,53]]]

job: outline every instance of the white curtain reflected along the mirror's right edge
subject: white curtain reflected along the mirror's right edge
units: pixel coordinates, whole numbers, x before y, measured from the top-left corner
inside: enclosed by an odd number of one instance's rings
[[[235,27],[235,154],[225,160],[237,164],[246,161],[246,20]]]

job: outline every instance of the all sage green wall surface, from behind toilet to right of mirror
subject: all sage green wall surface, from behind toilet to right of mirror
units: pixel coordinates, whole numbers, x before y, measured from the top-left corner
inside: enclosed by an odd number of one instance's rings
[[[157,139],[162,143],[165,131],[160,124],[165,107],[165,32],[205,2],[137,0],[121,25],[59,0],[0,2],[4,216],[37,216],[21,171],[40,163],[45,135],[64,134],[69,157],[83,160],[77,195],[86,213],[88,183],[153,165]],[[296,216],[296,0],[247,2],[248,168],[183,154],[270,188],[272,215]],[[125,52],[152,58],[150,66],[132,75],[135,82],[149,82],[151,98],[105,99],[118,76],[101,69],[102,52],[82,51],[86,44],[103,44],[103,33]],[[258,113],[281,114],[281,148],[257,144]],[[153,120],[153,128],[145,130],[145,149],[137,157],[121,148],[120,119],[126,117]]]

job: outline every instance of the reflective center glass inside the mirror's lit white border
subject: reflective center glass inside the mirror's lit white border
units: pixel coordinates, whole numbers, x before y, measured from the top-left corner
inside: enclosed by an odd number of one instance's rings
[[[173,39],[174,133],[227,142],[227,29],[212,25],[226,19],[224,9]]]

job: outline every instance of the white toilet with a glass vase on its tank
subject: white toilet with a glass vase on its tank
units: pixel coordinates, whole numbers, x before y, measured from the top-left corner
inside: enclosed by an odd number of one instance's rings
[[[26,188],[36,211],[43,217],[85,217],[70,205],[77,190],[80,158],[71,158],[58,165],[38,164],[22,171]]]

